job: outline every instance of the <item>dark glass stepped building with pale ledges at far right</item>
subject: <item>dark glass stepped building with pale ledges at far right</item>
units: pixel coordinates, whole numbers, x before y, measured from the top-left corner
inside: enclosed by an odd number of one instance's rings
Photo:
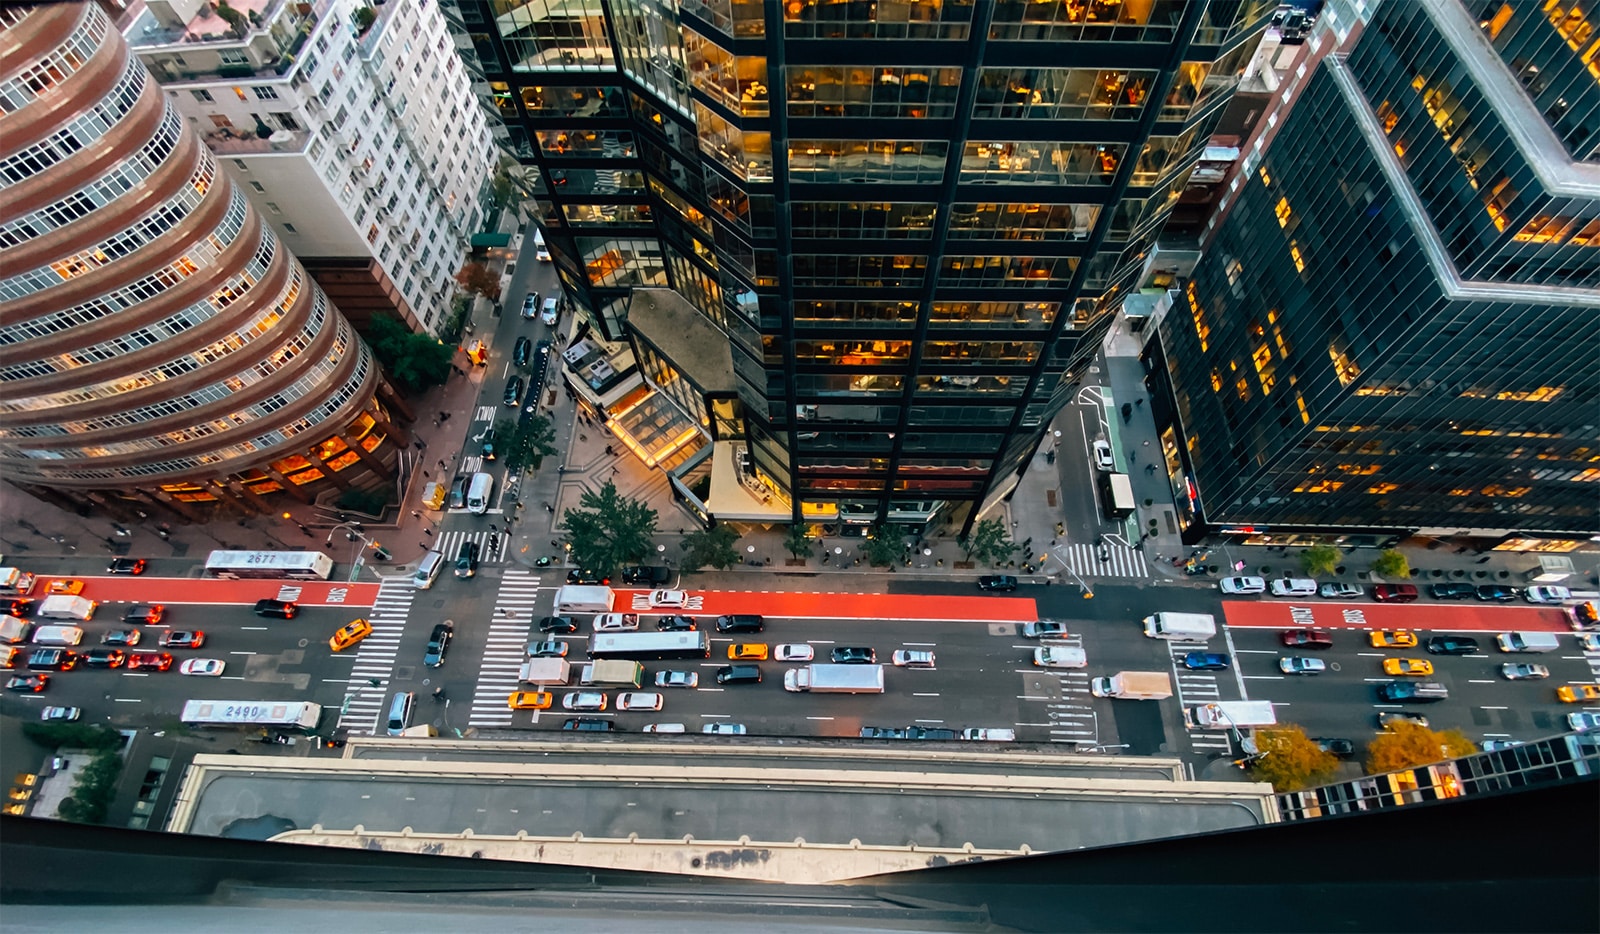
[[[1600,35],[1581,6],[1344,18],[1147,352],[1192,534],[1595,533]]]

